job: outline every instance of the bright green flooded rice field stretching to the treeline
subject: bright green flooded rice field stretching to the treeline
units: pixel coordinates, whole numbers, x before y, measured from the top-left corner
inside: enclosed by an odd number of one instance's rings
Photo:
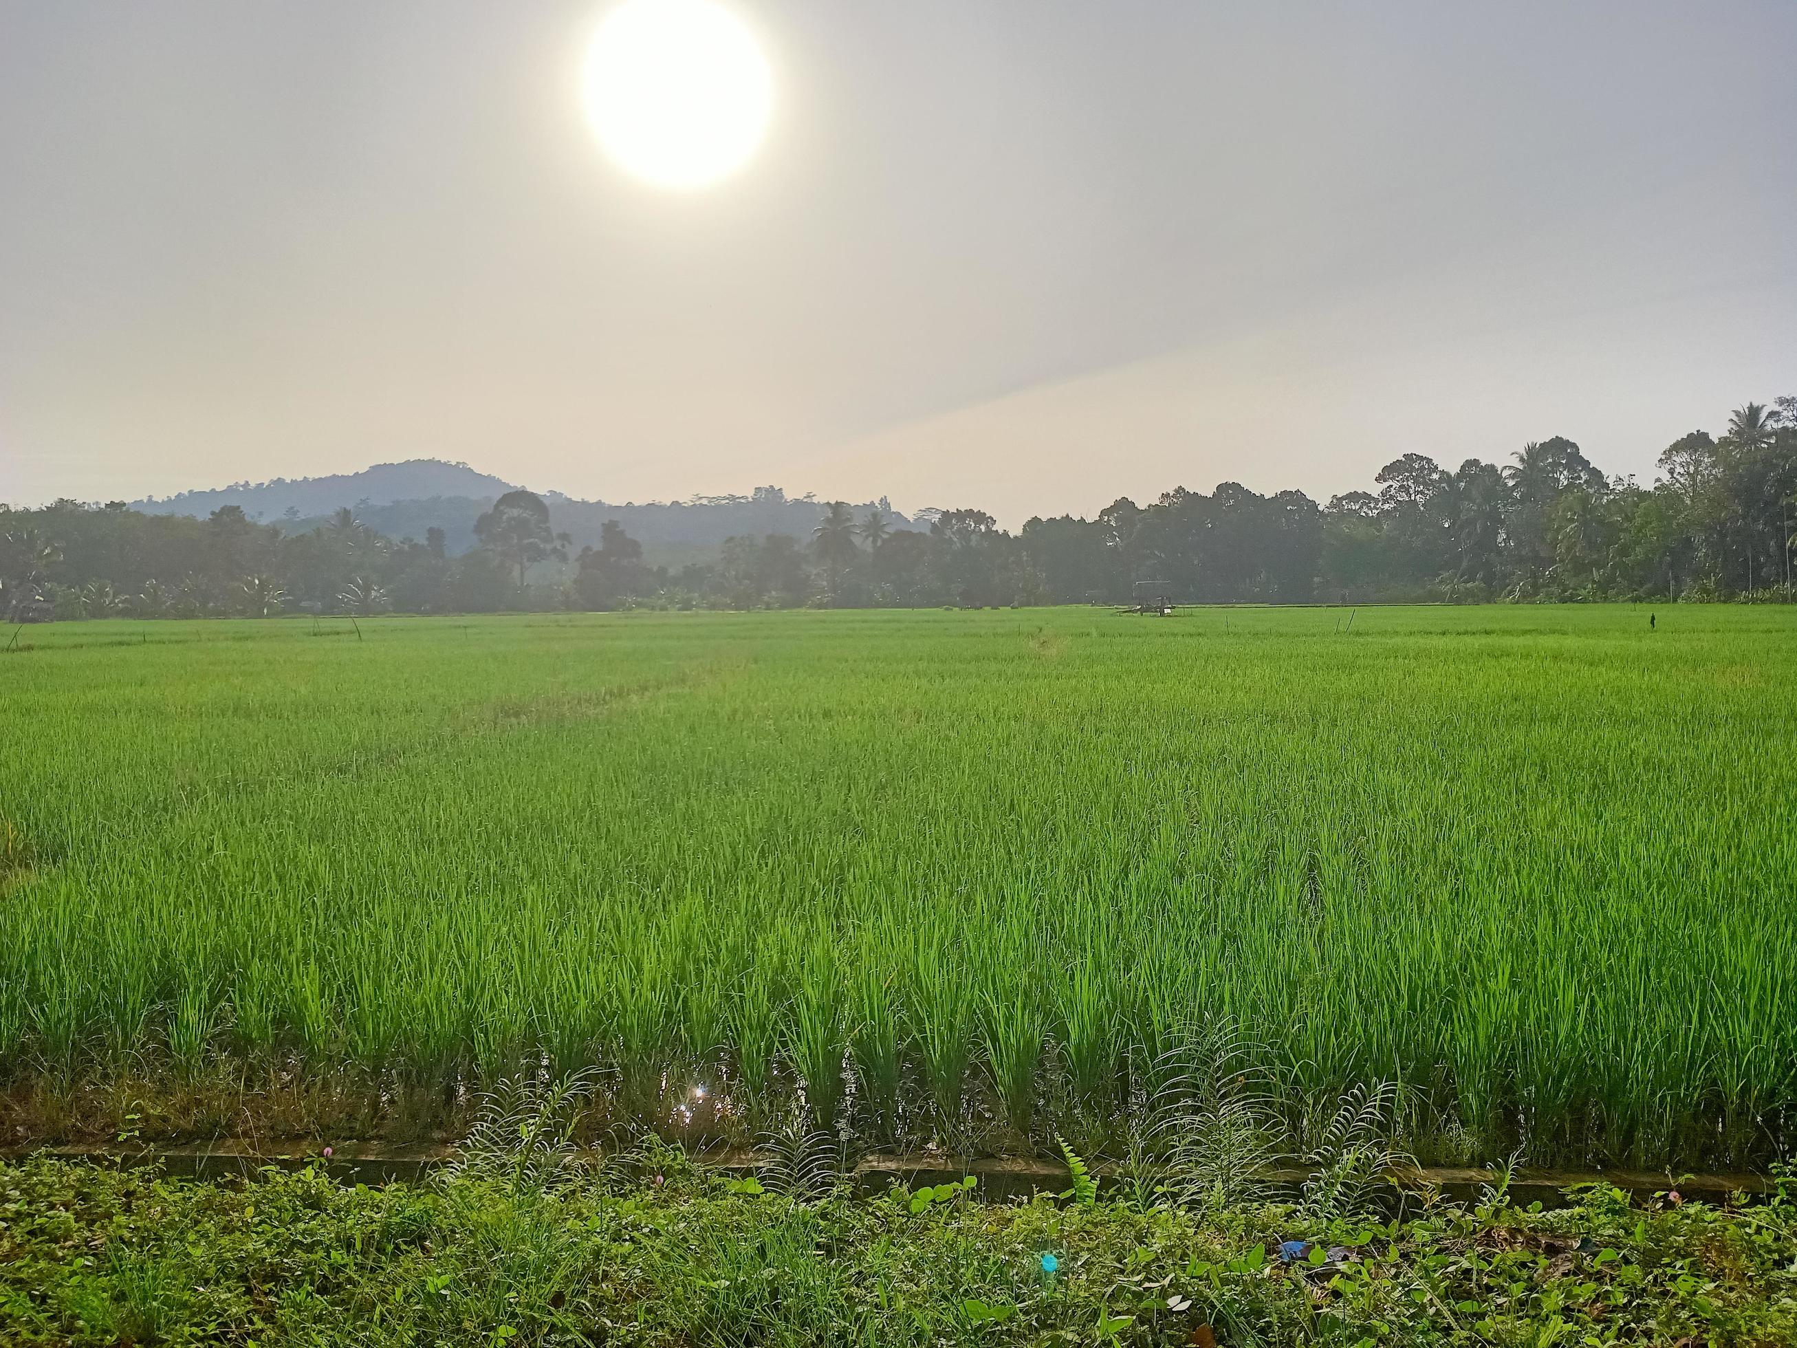
[[[694,1138],[1114,1147],[1218,1028],[1294,1116],[1400,1082],[1423,1159],[1781,1156],[1797,611],[90,622],[0,656],[18,1132],[305,1084],[377,1125],[593,1068],[613,1123]]]

